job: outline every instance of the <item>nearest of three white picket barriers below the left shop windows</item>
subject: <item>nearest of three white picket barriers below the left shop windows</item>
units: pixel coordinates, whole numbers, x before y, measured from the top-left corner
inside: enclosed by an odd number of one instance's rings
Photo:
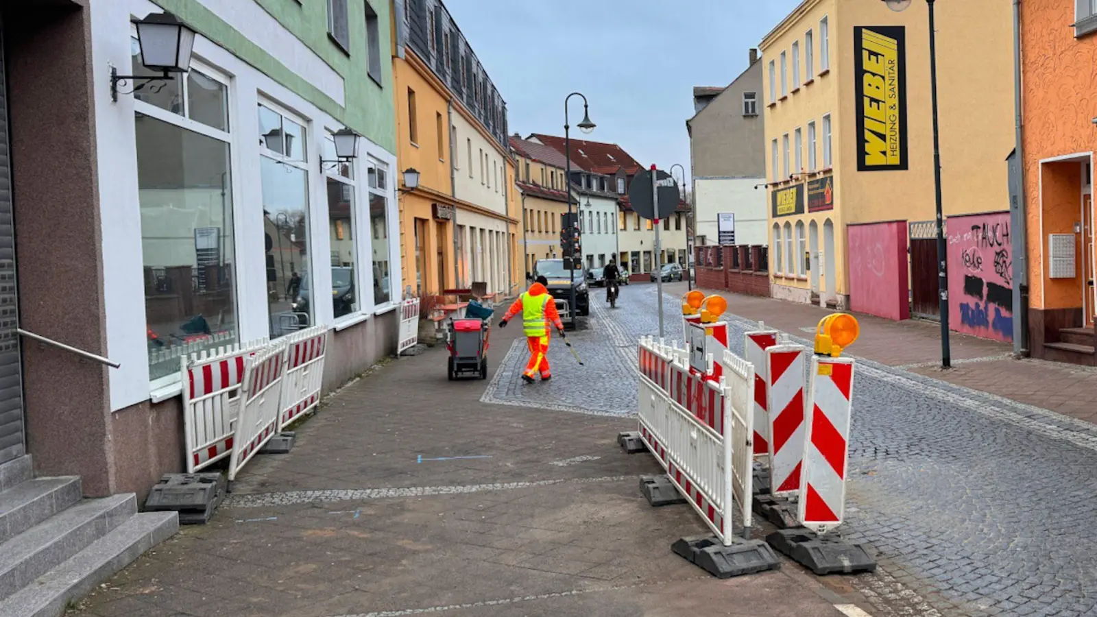
[[[245,359],[268,345],[267,339],[183,356],[183,433],[186,472],[194,473],[233,450],[233,424],[239,414]]]

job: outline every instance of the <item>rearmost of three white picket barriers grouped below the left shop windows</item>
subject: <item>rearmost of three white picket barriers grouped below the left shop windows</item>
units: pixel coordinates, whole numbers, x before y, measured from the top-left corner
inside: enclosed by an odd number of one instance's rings
[[[416,323],[418,324],[418,316]],[[319,404],[327,347],[326,325],[313,326],[286,337],[285,375],[282,378],[282,403],[278,423],[280,431],[294,418]]]

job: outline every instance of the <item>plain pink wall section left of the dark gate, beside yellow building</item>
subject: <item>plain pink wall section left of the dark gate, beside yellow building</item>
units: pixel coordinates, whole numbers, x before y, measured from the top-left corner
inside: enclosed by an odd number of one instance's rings
[[[850,225],[849,307],[889,319],[911,318],[906,222]]]

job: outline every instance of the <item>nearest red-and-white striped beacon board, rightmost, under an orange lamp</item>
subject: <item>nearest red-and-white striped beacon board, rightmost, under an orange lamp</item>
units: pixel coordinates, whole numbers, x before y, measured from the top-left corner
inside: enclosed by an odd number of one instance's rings
[[[853,360],[815,356],[811,374],[799,518],[804,527],[825,534],[841,524],[846,512]]]

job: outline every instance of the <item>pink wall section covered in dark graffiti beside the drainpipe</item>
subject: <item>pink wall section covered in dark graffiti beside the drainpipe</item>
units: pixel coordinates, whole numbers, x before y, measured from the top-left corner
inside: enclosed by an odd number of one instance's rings
[[[949,216],[949,326],[1011,341],[1013,248],[1009,213]]]

